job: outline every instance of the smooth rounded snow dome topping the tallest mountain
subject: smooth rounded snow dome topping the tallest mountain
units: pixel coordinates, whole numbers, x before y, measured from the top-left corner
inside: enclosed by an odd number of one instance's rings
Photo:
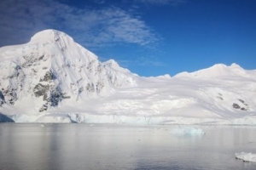
[[[45,41],[50,41],[50,42],[57,42],[60,39],[69,39],[73,41],[72,37],[69,37],[67,34],[61,31],[56,31],[53,29],[48,29],[44,31],[39,31],[36,33],[32,38],[30,42],[45,42]]]

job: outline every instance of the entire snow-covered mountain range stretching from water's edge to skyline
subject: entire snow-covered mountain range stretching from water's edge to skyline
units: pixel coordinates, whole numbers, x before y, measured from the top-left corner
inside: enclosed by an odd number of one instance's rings
[[[0,122],[256,125],[256,71],[138,77],[60,31],[0,48],[0,80]]]

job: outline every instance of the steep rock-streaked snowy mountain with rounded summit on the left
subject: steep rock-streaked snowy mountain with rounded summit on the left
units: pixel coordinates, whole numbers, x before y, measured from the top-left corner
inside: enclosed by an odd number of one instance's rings
[[[101,63],[60,31],[41,31],[24,45],[0,48],[0,59],[0,105],[29,103],[42,112],[65,99],[96,98],[136,85],[130,71],[113,59]]]

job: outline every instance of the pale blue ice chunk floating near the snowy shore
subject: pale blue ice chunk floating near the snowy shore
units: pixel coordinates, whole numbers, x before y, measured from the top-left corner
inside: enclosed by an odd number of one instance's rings
[[[196,127],[176,127],[170,132],[178,135],[204,135],[206,134],[201,128]]]

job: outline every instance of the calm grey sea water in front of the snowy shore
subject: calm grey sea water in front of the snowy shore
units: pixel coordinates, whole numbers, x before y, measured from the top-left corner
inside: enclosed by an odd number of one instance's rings
[[[0,124],[0,169],[256,169],[235,158],[256,153],[256,127],[201,126],[204,136],[173,135],[172,128]]]

